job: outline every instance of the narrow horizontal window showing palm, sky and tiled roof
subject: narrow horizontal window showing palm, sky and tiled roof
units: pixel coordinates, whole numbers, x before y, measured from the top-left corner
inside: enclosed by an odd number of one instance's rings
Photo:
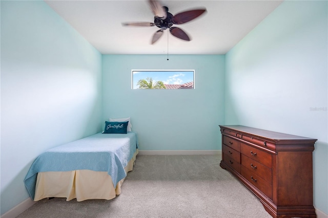
[[[132,89],[195,89],[194,70],[132,70]]]

